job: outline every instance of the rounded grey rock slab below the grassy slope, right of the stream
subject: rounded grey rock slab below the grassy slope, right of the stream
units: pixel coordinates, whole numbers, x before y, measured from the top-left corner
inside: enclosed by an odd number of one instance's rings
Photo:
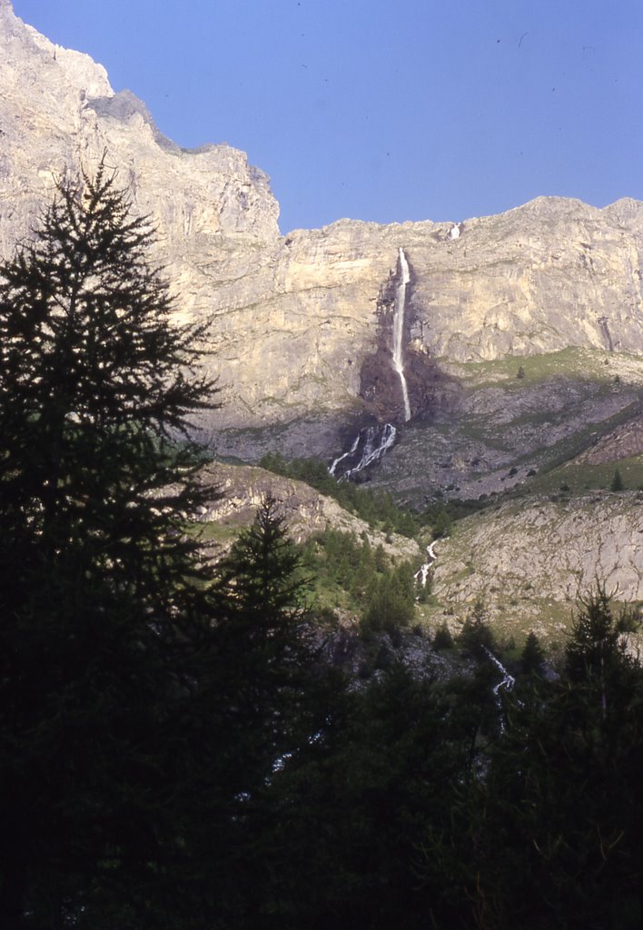
[[[435,594],[453,604],[481,598],[491,606],[519,591],[527,602],[575,604],[597,581],[618,601],[643,600],[643,507],[635,491],[505,504],[462,521],[435,549]]]

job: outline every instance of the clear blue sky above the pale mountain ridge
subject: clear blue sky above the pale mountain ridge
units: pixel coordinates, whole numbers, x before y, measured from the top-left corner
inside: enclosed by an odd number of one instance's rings
[[[182,146],[261,167],[282,232],[643,199],[643,0],[13,0]]]

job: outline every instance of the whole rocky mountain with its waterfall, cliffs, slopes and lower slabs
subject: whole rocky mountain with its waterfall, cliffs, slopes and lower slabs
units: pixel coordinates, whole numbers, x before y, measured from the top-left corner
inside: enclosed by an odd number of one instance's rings
[[[0,257],[31,234],[56,178],[102,157],[154,219],[177,316],[210,326],[224,403],[195,426],[220,456],[325,458],[416,508],[497,495],[438,544],[435,610],[422,608],[437,618],[462,618],[481,594],[497,619],[511,600],[524,613],[521,591],[567,609],[594,577],[642,596],[643,203],[539,197],[460,223],[340,219],[281,235],[245,153],[182,149],[100,64],[0,0]],[[629,490],[610,497],[616,464]],[[276,481],[228,466],[219,480],[228,503],[199,517],[215,539]],[[277,485],[296,534],[365,532],[334,502]]]

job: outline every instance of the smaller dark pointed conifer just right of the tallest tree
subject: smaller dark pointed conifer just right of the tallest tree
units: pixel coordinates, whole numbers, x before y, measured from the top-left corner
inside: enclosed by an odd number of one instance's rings
[[[233,709],[226,780],[237,792],[261,786],[275,759],[297,745],[314,658],[307,586],[285,518],[267,497],[218,566],[213,589],[217,686],[221,704]]]

